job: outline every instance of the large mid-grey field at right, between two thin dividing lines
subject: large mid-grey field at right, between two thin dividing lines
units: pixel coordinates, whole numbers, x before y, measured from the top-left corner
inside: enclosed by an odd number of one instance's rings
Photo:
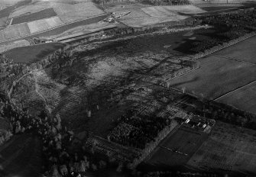
[[[170,80],[170,85],[214,99],[256,79],[252,64],[219,56],[206,56],[198,62],[199,69]]]

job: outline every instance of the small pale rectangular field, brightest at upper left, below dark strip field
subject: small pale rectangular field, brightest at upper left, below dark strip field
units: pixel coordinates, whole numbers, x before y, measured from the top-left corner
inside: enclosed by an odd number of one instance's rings
[[[52,27],[57,27],[62,25],[63,22],[58,17],[53,18],[46,18],[38,21],[31,21],[28,22],[29,30],[31,31],[31,34],[48,30]]]

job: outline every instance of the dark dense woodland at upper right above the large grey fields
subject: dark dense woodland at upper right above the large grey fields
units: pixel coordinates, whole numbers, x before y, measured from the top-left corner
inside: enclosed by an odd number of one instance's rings
[[[216,14],[197,19],[202,21],[203,24],[211,24],[223,30],[216,31],[210,39],[206,38],[193,42],[190,51],[193,53],[203,52],[255,31],[255,18],[256,11],[250,10]]]

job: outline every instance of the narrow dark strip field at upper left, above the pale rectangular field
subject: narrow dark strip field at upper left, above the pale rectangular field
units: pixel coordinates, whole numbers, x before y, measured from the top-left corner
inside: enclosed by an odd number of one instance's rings
[[[13,18],[11,24],[21,24],[29,21],[37,21],[44,18],[51,18],[56,15],[57,14],[53,10],[53,8],[47,8],[47,9],[44,9],[43,11],[38,11],[33,14],[27,14],[21,17]]]

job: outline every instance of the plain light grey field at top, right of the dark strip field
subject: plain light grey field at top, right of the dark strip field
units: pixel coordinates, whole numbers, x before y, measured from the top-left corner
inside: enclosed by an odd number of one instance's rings
[[[53,4],[54,11],[64,23],[90,18],[96,15],[105,14],[92,2],[69,4]]]

